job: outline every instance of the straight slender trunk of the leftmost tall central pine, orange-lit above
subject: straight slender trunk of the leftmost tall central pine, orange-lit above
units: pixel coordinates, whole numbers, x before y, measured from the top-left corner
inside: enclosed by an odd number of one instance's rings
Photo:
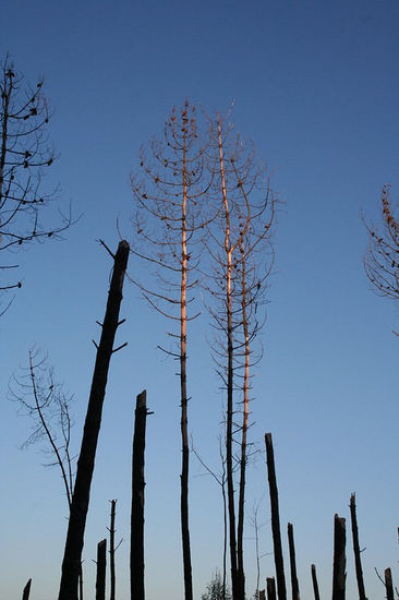
[[[188,110],[188,109],[186,109]],[[189,526],[189,432],[188,432],[188,380],[186,380],[186,287],[188,287],[188,166],[186,166],[186,128],[188,113],[183,116],[183,202],[181,224],[181,284],[180,284],[180,401],[181,401],[181,495],[180,515],[183,549],[184,598],[193,600],[193,580],[191,567],[190,526]]]

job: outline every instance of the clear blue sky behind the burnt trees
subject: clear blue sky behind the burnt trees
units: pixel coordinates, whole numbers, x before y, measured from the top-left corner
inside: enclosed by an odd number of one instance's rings
[[[285,201],[275,237],[264,360],[254,382],[252,439],[275,441],[283,531],[294,524],[302,595],[316,563],[330,593],[332,517],[349,518],[355,491],[370,598],[374,574],[398,547],[398,311],[370,289],[362,267],[364,212],[377,218],[379,191],[399,196],[399,4],[384,1],[3,0],[0,52],[29,81],[45,75],[60,158],[45,185],[60,182],[60,206],[83,214],[62,243],[22,252],[23,288],[0,321],[1,598],[52,600],[58,590],[66,504],[59,473],[38,448],[21,452],[28,422],[5,400],[11,374],[32,345],[48,351],[75,395],[76,449],[90,384],[117,217],[130,236],[129,175],[137,151],[160,135],[184,98],[226,110],[275,172]],[[142,266],[132,260],[130,269]],[[146,583],[149,600],[183,597],[179,530],[179,399],[176,365],[156,350],[166,323],[126,286],[84,549],[86,598],[94,598],[96,543],[117,497],[119,598],[128,598],[131,440],[135,395],[147,388]],[[218,381],[204,337],[190,344],[190,423],[195,444],[218,467]],[[191,521],[195,597],[221,562],[220,494],[192,460]],[[262,577],[274,572],[266,472],[261,456],[249,508],[261,501]],[[253,531],[246,529],[247,591],[255,588]],[[286,548],[286,561],[287,544]],[[348,548],[349,598],[354,568]],[[92,585],[92,588],[89,586]],[[92,591],[93,590],[93,591]]]

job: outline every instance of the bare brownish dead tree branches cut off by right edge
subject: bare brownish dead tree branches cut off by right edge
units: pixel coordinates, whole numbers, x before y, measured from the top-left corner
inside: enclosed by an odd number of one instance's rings
[[[382,226],[366,224],[368,250],[364,268],[368,280],[379,296],[399,300],[399,216],[390,200],[390,185],[380,194]]]

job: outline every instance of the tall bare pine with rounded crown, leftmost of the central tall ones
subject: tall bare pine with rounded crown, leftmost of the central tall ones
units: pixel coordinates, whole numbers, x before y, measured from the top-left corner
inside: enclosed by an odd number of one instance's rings
[[[173,349],[159,348],[179,362],[181,464],[181,535],[184,598],[192,600],[192,564],[189,519],[189,395],[188,323],[197,286],[200,242],[204,230],[203,203],[209,187],[204,171],[204,148],[195,107],[185,101],[173,108],[165,124],[162,141],[154,140],[141,153],[141,173],[132,177],[135,243],[133,253],[153,267],[156,284],[134,281],[144,298],[177,325],[169,332]]]

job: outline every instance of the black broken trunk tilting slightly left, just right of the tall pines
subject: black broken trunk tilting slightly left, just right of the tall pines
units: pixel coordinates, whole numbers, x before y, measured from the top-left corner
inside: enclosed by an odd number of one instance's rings
[[[273,545],[275,551],[275,565],[277,578],[277,592],[279,600],[287,600],[285,565],[282,559],[280,516],[278,509],[278,490],[276,481],[275,455],[273,449],[271,433],[265,435],[267,477],[269,481]]]

